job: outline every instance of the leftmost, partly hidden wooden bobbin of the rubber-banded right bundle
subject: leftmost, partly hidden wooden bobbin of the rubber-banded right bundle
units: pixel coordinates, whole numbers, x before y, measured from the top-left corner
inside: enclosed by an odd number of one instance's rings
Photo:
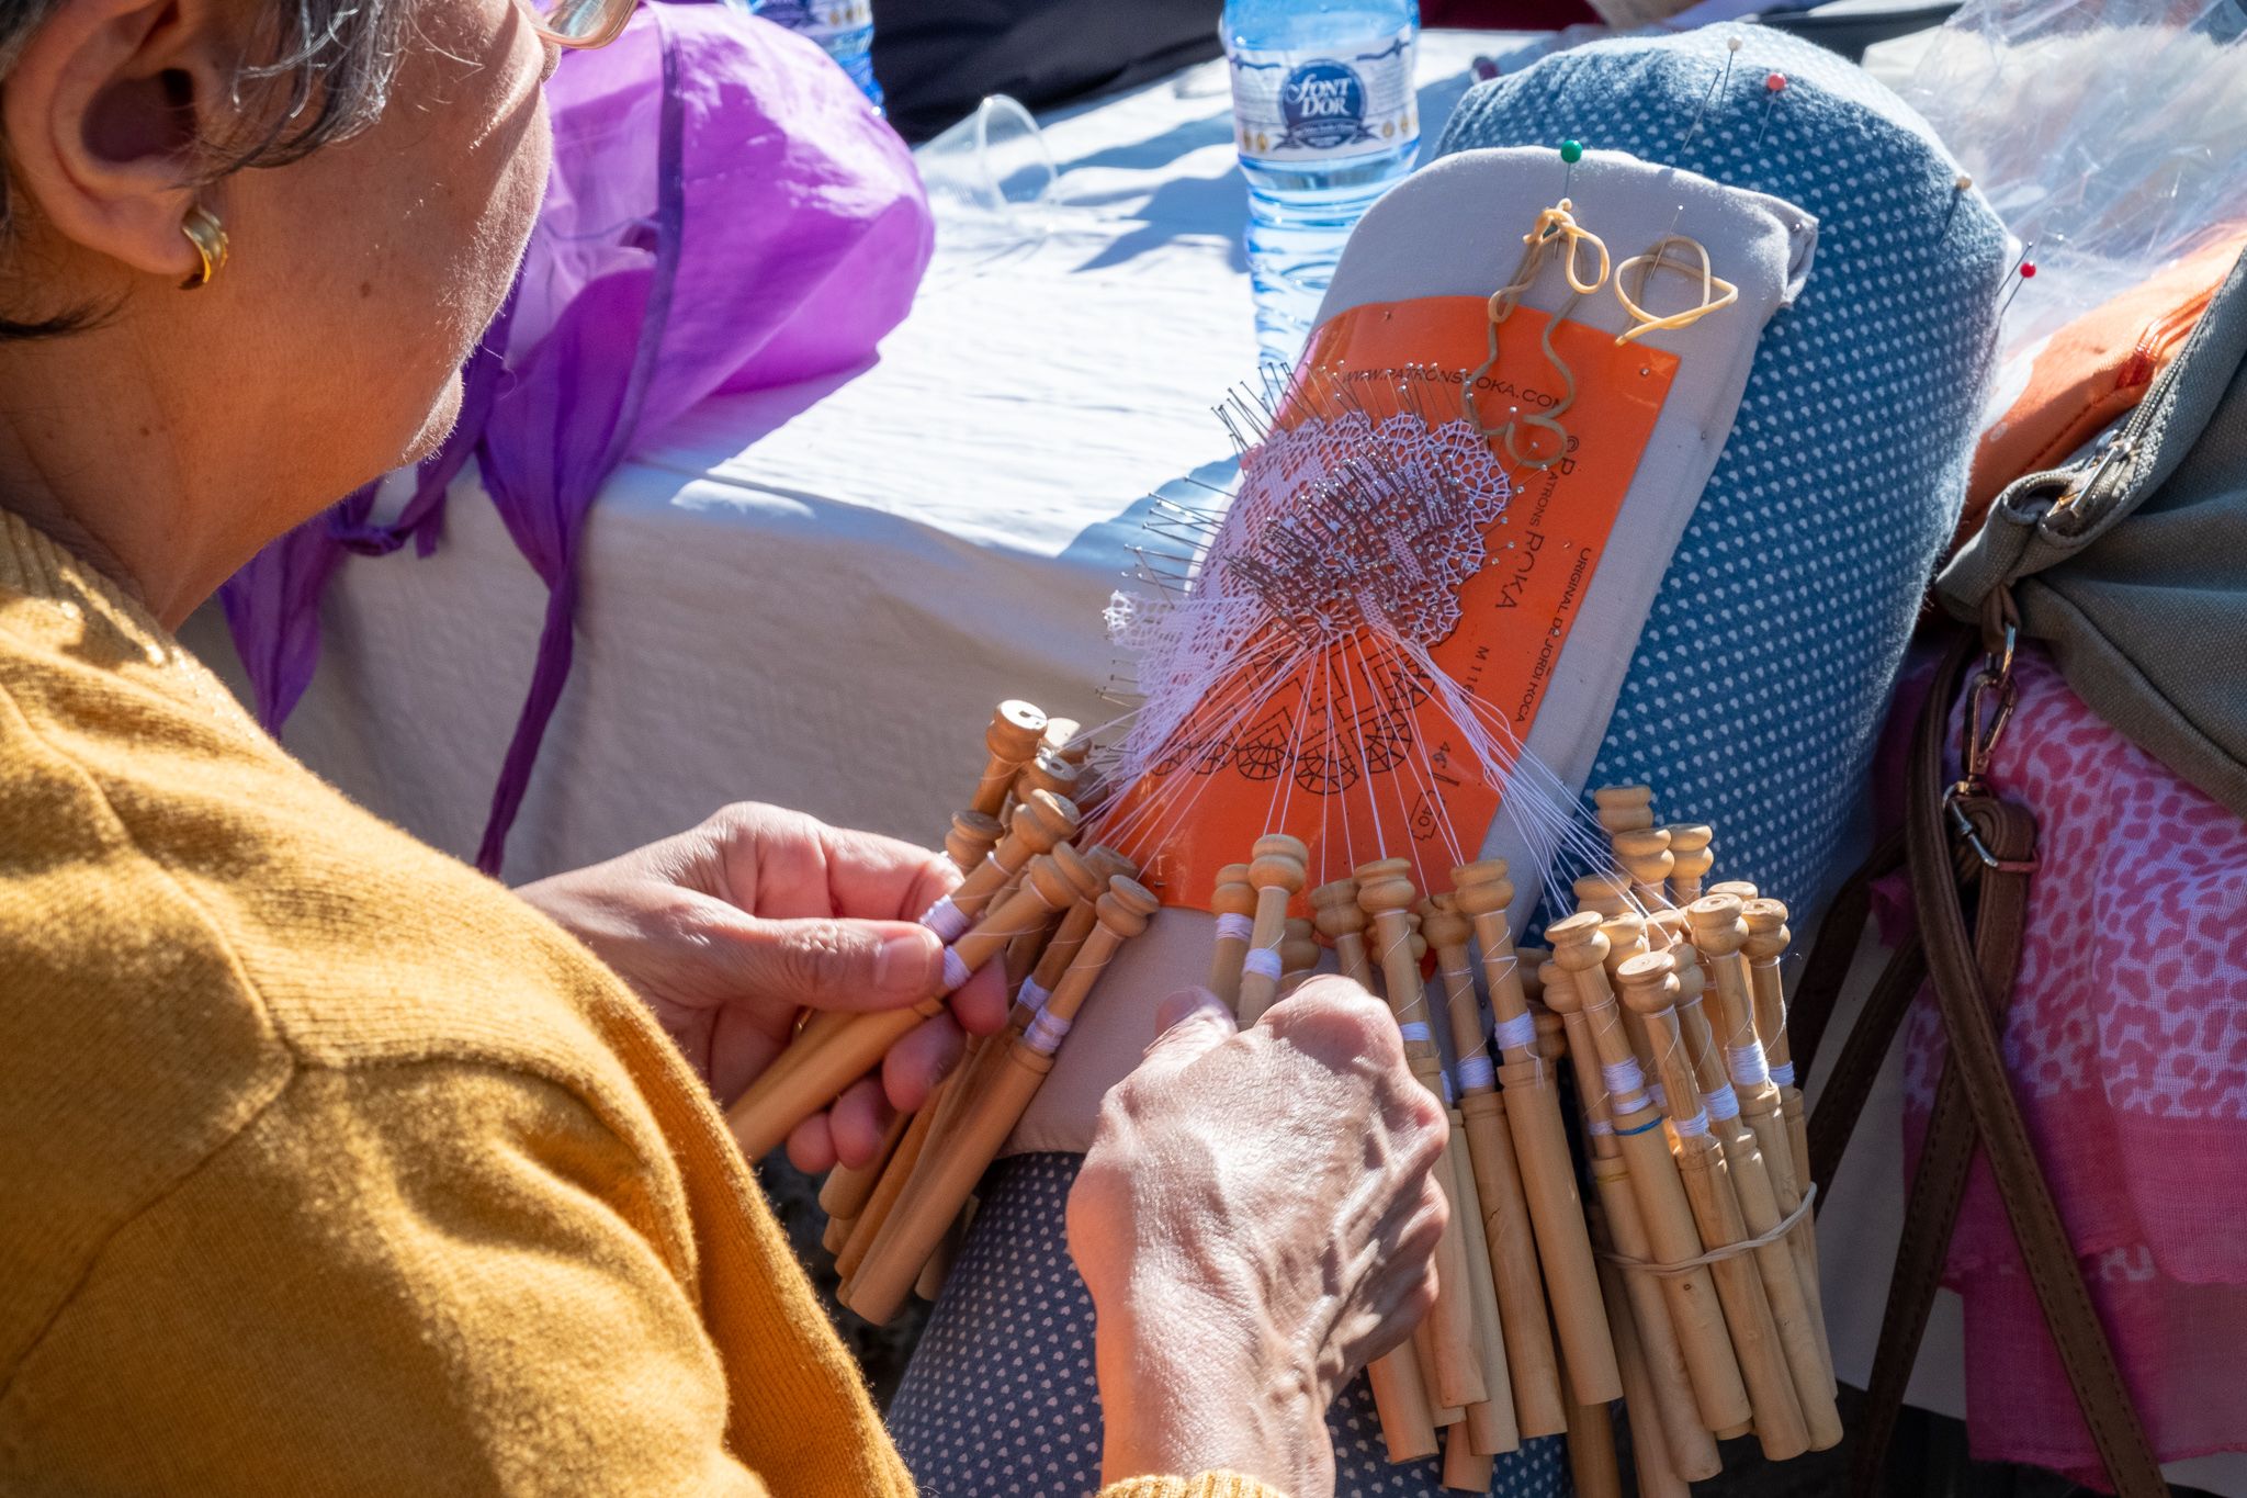
[[[1591,1141],[1591,1181],[1600,1193],[1600,1220],[1607,1224],[1609,1244],[1622,1258],[1654,1262],[1654,1244],[1647,1240],[1645,1222],[1638,1215],[1638,1199],[1631,1195],[1629,1168],[1622,1148],[1616,1143],[1616,1125],[1607,1112],[1607,1083],[1600,1076],[1598,1049],[1591,1042],[1591,1024],[1577,1002],[1573,979],[1559,963],[1546,961],[1539,968],[1546,999],[1562,1020],[1568,1042],[1566,1056],[1575,1067],[1577,1098],[1584,1103],[1584,1134]],[[1636,1345],[1647,1372],[1649,1401],[1631,1406],[1631,1435],[1638,1442],[1656,1442],[1667,1458],[1667,1469],[1687,1482],[1701,1482],[1723,1471],[1717,1455],[1717,1437],[1701,1422],[1701,1404],[1694,1397],[1692,1372],[1685,1368],[1685,1352],[1679,1345],[1676,1323],[1663,1298],[1661,1282],[1645,1269],[1602,1269],[1611,1325],[1618,1321],[1618,1300],[1611,1280],[1620,1278],[1627,1318],[1636,1325]],[[1622,1365],[1622,1339],[1616,1339],[1618,1368]],[[1625,1370],[1627,1372],[1627,1370]],[[1625,1386],[1629,1399],[1629,1386]],[[1741,1399],[1746,1404],[1746,1399]]]

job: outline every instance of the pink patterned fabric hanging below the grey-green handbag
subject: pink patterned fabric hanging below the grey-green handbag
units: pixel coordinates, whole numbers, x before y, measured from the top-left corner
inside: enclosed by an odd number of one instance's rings
[[[1991,784],[2038,820],[2004,1056],[2162,1460],[2247,1449],[2247,824],[2108,728],[2036,651]],[[1941,1033],[1905,1026],[1919,1157]],[[2108,1487],[1977,1159],[1944,1282],[1984,1460]]]

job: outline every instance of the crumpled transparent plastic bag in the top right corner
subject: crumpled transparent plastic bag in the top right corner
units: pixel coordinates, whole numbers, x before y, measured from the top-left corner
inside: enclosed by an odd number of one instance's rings
[[[2238,0],[1966,0],[1917,61],[1867,58],[2036,265],[2002,364],[2247,225],[2243,36]]]

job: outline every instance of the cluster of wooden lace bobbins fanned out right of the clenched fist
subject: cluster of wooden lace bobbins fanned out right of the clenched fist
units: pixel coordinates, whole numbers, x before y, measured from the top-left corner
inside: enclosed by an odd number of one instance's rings
[[[1523,1437],[1566,1433],[1577,1491],[1618,1494],[1618,1397],[1647,1498],[1717,1476],[1726,1437],[1784,1460],[1843,1435],[1786,1058],[1786,907],[1744,883],[1703,894],[1710,829],[1656,826],[1645,786],[1595,804],[1616,869],[1575,883],[1550,952],[1517,950],[1503,860],[1427,898],[1402,858],[1306,892],[1306,847],[1267,835],[1211,903],[1209,986],[1243,1022],[1317,966],[1290,941],[1301,896],[1332,966],[1386,999],[1413,1074],[1452,1109],[1436,1305],[1371,1383],[1391,1460],[1440,1449],[1461,1491],[1483,1491]]]

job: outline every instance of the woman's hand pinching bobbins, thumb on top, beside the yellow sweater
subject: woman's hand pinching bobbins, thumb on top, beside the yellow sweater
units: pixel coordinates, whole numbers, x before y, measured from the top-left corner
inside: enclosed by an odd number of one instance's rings
[[[804,1008],[899,1008],[935,993],[944,943],[919,914],[959,874],[939,853],[742,802],[622,858],[517,889],[629,981],[721,1105],[773,1065]],[[955,1022],[957,1020],[957,1022]],[[865,1163],[892,1109],[959,1058],[959,1026],[1007,1022],[995,968],[789,1134],[800,1170]]]

